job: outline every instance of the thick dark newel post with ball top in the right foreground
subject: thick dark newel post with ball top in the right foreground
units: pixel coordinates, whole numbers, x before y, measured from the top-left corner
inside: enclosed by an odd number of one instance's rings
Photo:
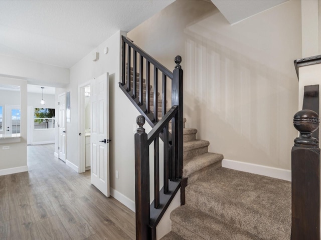
[[[291,240],[320,239],[320,148],[311,133],[319,118],[312,110],[293,117],[300,136],[292,147],[292,228]]]

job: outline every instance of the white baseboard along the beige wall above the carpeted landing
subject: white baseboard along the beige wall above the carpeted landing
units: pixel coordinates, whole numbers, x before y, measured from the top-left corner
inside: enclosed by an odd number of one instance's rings
[[[234,161],[229,159],[223,159],[222,166],[226,168],[231,168],[234,170],[246,171],[246,172],[255,173],[263,176],[269,176],[269,177],[291,181],[291,171],[282,169],[282,168],[263,166],[263,165],[258,165],[258,164],[248,163],[248,162],[241,162],[241,161]]]

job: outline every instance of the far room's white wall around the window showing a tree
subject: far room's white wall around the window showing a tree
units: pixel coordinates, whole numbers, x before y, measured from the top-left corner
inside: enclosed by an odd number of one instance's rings
[[[45,104],[40,104],[42,99],[41,93],[28,92],[28,105],[32,106],[31,116],[34,117],[34,109],[40,108],[55,108],[55,95],[44,94]],[[57,112],[57,109],[56,109]],[[57,119],[57,118],[56,118]],[[31,144],[43,144],[43,143],[54,143],[55,142],[55,129],[34,129],[34,119],[32,122],[32,139]]]

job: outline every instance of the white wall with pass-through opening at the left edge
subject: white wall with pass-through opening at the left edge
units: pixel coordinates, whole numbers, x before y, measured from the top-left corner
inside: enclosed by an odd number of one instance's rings
[[[26,171],[27,168],[27,81],[0,77],[0,84],[20,86],[21,141],[16,143],[0,142],[0,175]],[[15,102],[16,103],[16,102]],[[3,150],[8,145],[10,149]]]

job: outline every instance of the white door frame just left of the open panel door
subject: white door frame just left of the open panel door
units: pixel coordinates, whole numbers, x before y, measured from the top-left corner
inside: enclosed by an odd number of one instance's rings
[[[79,132],[79,167],[78,172],[86,171],[85,145],[85,86],[90,85],[91,79],[78,85],[78,132]],[[80,134],[81,133],[81,134]],[[91,147],[91,146],[90,146]]]

